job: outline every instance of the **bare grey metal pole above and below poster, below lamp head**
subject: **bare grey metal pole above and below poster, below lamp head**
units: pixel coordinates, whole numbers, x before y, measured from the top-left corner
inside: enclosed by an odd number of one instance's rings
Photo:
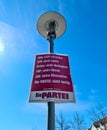
[[[54,43],[53,43],[54,38],[55,38],[55,35],[53,34],[48,35],[50,53],[54,53]],[[55,130],[55,103],[54,102],[48,102],[47,130]]]

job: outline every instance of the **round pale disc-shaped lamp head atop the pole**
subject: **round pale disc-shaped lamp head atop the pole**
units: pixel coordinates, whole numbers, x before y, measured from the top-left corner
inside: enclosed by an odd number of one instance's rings
[[[55,38],[58,38],[65,32],[66,22],[59,13],[47,12],[40,16],[37,29],[45,38],[48,38],[50,34],[54,34]]]

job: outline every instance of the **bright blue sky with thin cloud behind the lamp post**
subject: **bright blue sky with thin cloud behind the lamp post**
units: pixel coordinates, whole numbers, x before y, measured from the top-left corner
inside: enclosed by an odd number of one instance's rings
[[[56,105],[56,115],[86,116],[97,103],[107,106],[106,0],[0,0],[0,129],[46,129],[47,104],[29,104],[34,57],[48,52],[36,23],[47,11],[67,22],[55,53],[68,54],[76,103]]]

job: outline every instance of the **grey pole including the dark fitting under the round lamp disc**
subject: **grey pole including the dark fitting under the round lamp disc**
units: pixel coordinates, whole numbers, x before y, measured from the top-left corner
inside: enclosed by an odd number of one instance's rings
[[[49,32],[47,34],[47,40],[49,41],[49,52],[54,53],[54,42],[56,38],[55,34],[55,22],[51,22],[49,25]],[[47,130],[55,130],[55,103],[48,102],[48,124]]]

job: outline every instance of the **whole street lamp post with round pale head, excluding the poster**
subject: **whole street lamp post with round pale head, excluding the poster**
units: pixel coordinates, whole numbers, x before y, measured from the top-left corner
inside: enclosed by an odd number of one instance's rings
[[[47,12],[38,20],[39,33],[49,41],[49,53],[54,53],[54,39],[60,37],[66,29],[66,22],[57,12]],[[48,101],[47,130],[55,130],[55,102]]]

